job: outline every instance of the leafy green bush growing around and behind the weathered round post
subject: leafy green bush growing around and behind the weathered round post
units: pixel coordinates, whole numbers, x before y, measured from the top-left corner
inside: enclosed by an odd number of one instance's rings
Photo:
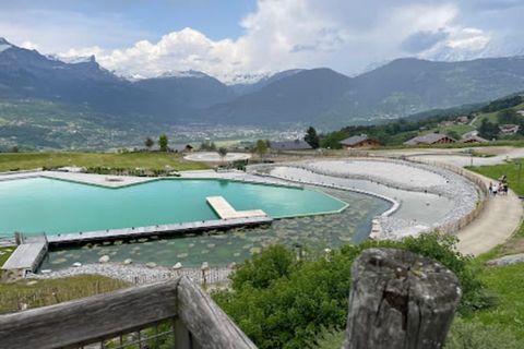
[[[460,312],[467,313],[488,302],[469,258],[455,251],[455,238],[438,233],[367,241],[334,251],[330,261],[302,262],[291,251],[272,246],[237,269],[231,291],[213,297],[259,348],[305,348],[322,328],[345,326],[353,261],[365,249],[396,248],[439,261],[454,272],[463,290]]]

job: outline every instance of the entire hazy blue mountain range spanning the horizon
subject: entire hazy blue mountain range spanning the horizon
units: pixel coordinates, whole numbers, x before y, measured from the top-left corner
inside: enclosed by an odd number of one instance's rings
[[[121,124],[313,124],[326,130],[524,89],[524,57],[462,62],[406,58],[353,77],[326,68],[297,69],[234,85],[202,72],[174,71],[128,80],[94,57],[63,62],[0,38],[0,100],[59,103],[110,115],[111,122]]]

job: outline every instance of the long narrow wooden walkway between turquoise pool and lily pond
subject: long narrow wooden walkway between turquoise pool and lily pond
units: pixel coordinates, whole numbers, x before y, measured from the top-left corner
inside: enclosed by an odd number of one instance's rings
[[[74,232],[66,234],[56,234],[47,237],[50,244],[68,244],[74,242],[87,242],[96,240],[118,240],[118,239],[132,239],[132,238],[143,238],[147,236],[163,236],[163,234],[175,234],[175,233],[184,233],[184,232],[194,232],[212,229],[226,229],[233,227],[242,227],[242,226],[253,226],[270,224],[273,221],[273,218],[264,215],[263,217],[248,217],[248,218],[236,218],[236,219],[214,219],[214,220],[202,220],[202,221],[191,221],[191,222],[181,222],[174,225],[159,225],[159,226],[150,226],[150,227],[140,227],[140,228],[123,228],[123,229],[108,229],[108,230],[97,230],[97,231],[86,231],[86,232]]]

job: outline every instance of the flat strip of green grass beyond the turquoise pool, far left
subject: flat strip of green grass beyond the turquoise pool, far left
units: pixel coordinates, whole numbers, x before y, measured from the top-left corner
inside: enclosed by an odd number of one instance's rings
[[[39,167],[115,167],[164,169],[165,166],[183,171],[206,169],[202,163],[188,161],[172,153],[2,153],[0,171],[35,169]]]

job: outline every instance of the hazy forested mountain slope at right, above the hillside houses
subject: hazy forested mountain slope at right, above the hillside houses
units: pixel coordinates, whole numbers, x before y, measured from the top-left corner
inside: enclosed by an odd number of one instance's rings
[[[524,58],[431,62],[398,59],[354,79],[333,111],[403,117],[499,98],[524,88]]]

